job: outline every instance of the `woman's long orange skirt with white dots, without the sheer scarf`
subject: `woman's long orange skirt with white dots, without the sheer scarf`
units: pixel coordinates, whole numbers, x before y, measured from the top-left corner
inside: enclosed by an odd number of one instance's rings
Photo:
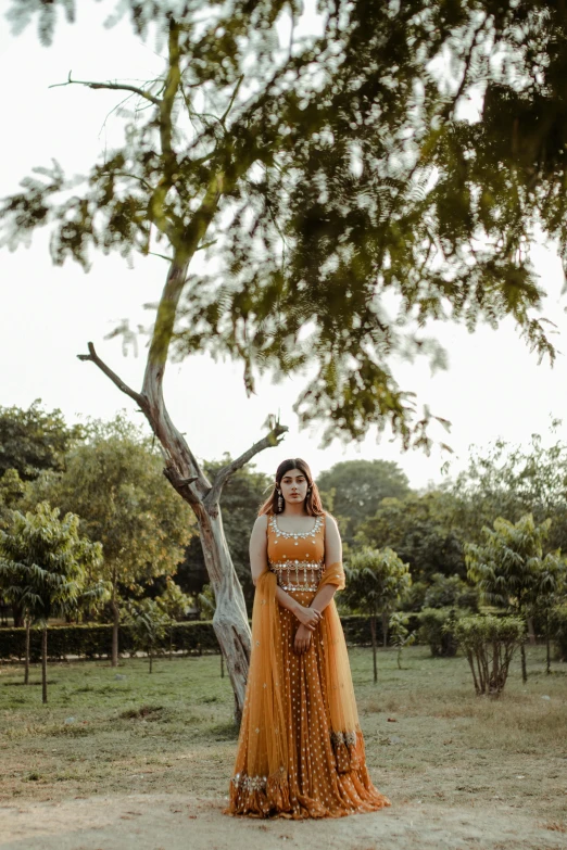
[[[288,593],[303,606],[308,606],[315,596],[312,591]],[[249,776],[244,705],[244,734],[239,741],[237,772],[230,782],[230,803],[226,813],[300,820],[342,817],[390,805],[388,798],[370,781],[360,727],[348,734],[331,731],[325,618],[312,633],[308,650],[297,655],[293,640],[298,620],[287,609],[278,608],[287,714],[287,776],[281,777],[277,788],[269,783],[261,787]]]

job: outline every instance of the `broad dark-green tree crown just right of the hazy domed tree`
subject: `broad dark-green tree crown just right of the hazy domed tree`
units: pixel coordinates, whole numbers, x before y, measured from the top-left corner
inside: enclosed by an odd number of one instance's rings
[[[410,563],[412,579],[429,583],[436,573],[466,575],[458,527],[453,523],[454,497],[431,492],[404,499],[385,499],[363,522],[356,540],[374,548],[391,546]]]

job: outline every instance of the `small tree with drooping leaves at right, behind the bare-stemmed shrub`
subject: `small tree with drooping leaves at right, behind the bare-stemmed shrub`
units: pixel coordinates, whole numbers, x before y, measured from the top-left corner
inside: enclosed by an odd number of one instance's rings
[[[559,569],[558,551],[543,556],[550,525],[550,519],[537,525],[531,513],[516,523],[499,517],[493,529],[482,529],[482,544],[465,545],[468,576],[477,583],[484,602],[503,606],[524,620],[533,613],[543,575]],[[521,677],[528,681],[524,644]]]

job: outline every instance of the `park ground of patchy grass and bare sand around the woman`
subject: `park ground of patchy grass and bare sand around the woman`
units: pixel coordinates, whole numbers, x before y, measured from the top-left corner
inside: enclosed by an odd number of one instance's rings
[[[218,658],[50,667],[50,701],[0,667],[0,850],[567,850],[567,670],[528,648],[497,700],[466,660],[350,652],[370,775],[392,807],[232,819],[237,730]],[[34,684],[39,682],[33,672]]]

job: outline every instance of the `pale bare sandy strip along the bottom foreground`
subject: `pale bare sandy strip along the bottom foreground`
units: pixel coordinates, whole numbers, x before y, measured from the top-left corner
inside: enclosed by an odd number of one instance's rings
[[[91,797],[0,807],[2,850],[547,850],[567,834],[505,807],[399,804],[338,821],[257,821],[222,814],[218,799]]]

